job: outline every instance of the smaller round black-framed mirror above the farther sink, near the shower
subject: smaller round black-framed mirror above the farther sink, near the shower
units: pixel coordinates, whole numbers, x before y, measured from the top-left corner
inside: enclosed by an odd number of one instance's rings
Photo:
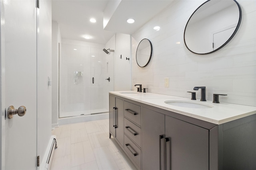
[[[152,44],[149,39],[142,39],[136,51],[136,61],[138,66],[148,65],[152,57]]]

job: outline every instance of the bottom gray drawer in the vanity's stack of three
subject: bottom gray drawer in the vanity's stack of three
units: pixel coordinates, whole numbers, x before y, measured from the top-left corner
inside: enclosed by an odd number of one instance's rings
[[[124,150],[141,169],[141,150],[126,135],[124,135]]]

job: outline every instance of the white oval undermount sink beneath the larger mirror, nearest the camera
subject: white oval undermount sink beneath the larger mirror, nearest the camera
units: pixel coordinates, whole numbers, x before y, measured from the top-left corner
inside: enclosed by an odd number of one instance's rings
[[[206,103],[201,102],[194,102],[194,101],[183,101],[183,100],[167,100],[164,103],[172,105],[172,106],[179,106],[179,107],[188,107],[188,108],[198,108],[198,109],[209,109],[214,106]]]

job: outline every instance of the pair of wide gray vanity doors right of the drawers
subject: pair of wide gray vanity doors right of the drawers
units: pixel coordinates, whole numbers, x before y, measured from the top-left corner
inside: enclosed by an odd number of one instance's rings
[[[143,170],[207,170],[209,130],[142,107]]]

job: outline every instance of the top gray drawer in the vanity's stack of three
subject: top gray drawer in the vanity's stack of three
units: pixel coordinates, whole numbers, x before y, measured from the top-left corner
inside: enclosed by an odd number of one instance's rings
[[[140,106],[124,101],[124,116],[140,125]]]

